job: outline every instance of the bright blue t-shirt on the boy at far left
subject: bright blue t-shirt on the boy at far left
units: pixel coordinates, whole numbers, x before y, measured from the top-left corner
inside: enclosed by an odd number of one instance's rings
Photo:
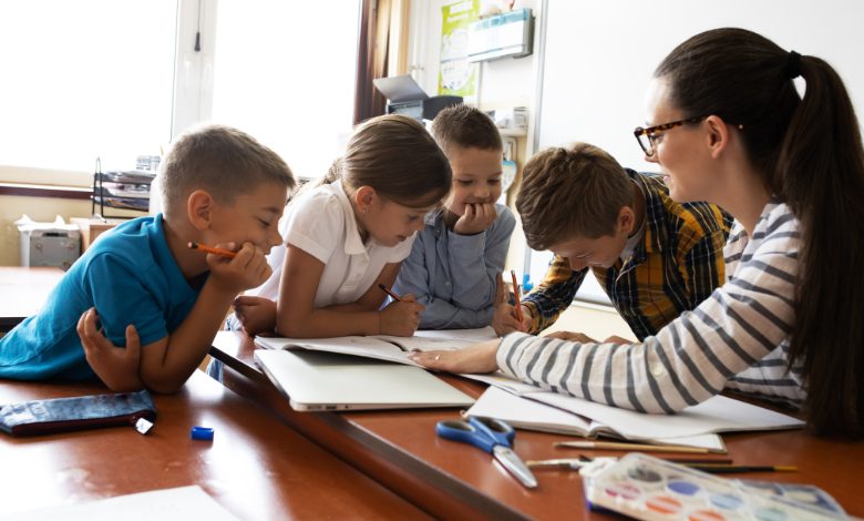
[[[91,378],[75,330],[84,311],[96,308],[115,346],[126,345],[130,324],[146,346],[179,327],[199,292],[168,249],[162,214],[123,223],[72,265],[39,314],[0,338],[0,378]]]

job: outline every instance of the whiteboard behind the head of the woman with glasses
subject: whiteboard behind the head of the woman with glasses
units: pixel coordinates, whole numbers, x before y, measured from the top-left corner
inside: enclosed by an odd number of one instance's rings
[[[820,57],[844,79],[864,123],[864,2],[855,0],[548,1],[541,146],[588,141],[624,165],[642,160],[632,130],[645,89],[678,43],[707,29],[741,27]]]

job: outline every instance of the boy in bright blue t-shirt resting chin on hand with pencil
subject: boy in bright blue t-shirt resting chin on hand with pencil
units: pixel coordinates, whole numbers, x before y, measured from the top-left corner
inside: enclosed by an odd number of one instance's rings
[[[219,125],[182,135],[160,178],[164,213],[113,228],[72,265],[42,310],[0,338],[0,378],[183,387],[237,294],[269,277],[295,180],[276,153]]]

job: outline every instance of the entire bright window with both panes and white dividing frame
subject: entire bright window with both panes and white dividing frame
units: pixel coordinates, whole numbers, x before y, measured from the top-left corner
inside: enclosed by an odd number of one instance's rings
[[[309,7],[0,3],[0,181],[86,185],[97,156],[105,170],[134,167],[136,156],[158,154],[203,121],[256,136],[298,176],[325,173],[351,131],[360,0]],[[22,167],[63,178],[10,174]]]

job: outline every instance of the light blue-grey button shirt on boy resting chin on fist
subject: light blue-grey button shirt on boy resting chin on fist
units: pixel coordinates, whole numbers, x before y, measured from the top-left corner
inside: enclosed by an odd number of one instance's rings
[[[495,222],[476,235],[460,235],[444,225],[442,211],[426,216],[411,255],[402,263],[395,292],[413,294],[426,309],[421,329],[465,329],[492,324],[496,276],[504,269],[516,218],[496,204]]]

